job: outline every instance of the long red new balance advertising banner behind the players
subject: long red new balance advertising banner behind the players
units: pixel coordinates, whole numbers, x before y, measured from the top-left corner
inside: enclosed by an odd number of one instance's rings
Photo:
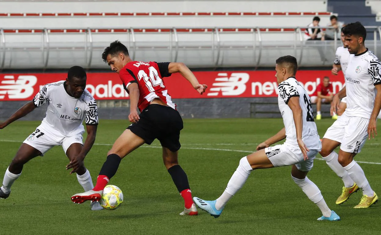
[[[278,95],[275,71],[194,72],[200,83],[208,85],[200,96],[180,74],[164,78],[168,93],[174,99],[275,97]],[[322,78],[328,76],[337,93],[344,85],[343,74],[330,70],[301,70],[296,78],[308,94],[314,93]],[[0,101],[31,100],[46,83],[65,80],[66,74],[0,74]],[[88,73],[86,88],[95,99],[128,99],[118,74]]]

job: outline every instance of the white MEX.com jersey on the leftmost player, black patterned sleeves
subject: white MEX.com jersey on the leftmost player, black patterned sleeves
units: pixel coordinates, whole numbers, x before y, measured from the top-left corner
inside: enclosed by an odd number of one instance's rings
[[[98,125],[98,109],[95,99],[85,90],[79,99],[67,94],[64,88],[65,81],[48,83],[43,86],[33,98],[34,105],[40,107],[48,102],[43,125],[51,127],[51,131],[58,135],[74,136],[82,134],[86,125]]]

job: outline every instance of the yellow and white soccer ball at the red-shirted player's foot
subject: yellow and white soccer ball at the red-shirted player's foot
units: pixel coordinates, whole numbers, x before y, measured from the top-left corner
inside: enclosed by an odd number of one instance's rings
[[[109,184],[103,189],[101,206],[107,210],[114,210],[123,202],[123,193],[117,186]]]

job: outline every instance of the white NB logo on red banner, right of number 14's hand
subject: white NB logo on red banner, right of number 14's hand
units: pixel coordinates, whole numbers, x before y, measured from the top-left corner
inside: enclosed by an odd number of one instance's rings
[[[246,91],[249,74],[232,73],[230,77],[227,77],[227,73],[219,73],[218,76],[221,77],[216,78],[208,96],[218,96],[220,92],[223,96],[239,96]]]

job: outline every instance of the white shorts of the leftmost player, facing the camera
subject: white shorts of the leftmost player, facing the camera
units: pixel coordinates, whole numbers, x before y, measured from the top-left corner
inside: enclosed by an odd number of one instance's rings
[[[43,125],[38,126],[36,131],[30,134],[23,143],[40,151],[42,153],[41,156],[48,152],[49,149],[57,145],[62,145],[62,149],[64,149],[65,154],[70,145],[74,143],[83,145],[82,133],[70,137],[57,136],[51,134],[49,129],[50,127],[45,127]]]

